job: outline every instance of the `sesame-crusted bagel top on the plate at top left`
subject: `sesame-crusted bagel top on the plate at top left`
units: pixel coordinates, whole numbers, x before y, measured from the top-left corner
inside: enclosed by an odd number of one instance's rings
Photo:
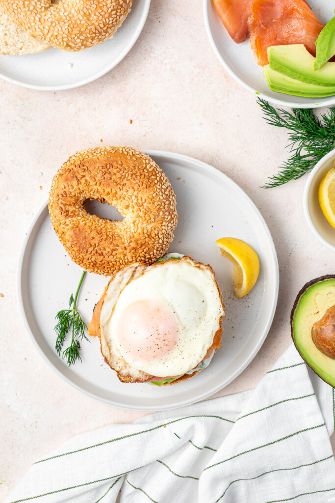
[[[0,0],[10,18],[30,35],[67,51],[113,37],[132,0]]]

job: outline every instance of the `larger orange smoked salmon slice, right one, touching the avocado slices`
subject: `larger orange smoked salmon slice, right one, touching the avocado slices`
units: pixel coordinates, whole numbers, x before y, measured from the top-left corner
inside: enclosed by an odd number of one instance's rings
[[[253,0],[248,29],[257,64],[269,63],[271,45],[304,44],[315,56],[315,40],[323,27],[304,0]]]

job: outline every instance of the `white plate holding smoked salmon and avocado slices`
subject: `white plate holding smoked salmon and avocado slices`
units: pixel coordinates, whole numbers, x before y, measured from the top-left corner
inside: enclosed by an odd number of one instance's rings
[[[308,4],[317,18],[324,24],[334,16],[333,2],[308,0]],[[263,77],[263,68],[255,61],[249,38],[242,44],[236,44],[231,39],[215,12],[212,0],[203,0],[203,17],[207,36],[217,59],[228,73],[248,91],[271,103],[286,107],[318,108],[335,103],[335,96],[310,99],[271,91]]]

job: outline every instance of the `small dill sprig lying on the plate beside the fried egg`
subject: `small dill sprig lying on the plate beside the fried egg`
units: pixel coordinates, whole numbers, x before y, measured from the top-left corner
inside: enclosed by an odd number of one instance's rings
[[[71,344],[66,350],[63,351],[62,358],[67,358],[67,364],[70,366],[71,364],[75,363],[76,360],[81,361],[81,357],[79,354],[80,351],[80,343],[79,339],[82,340],[83,338],[88,341],[87,337],[85,336],[85,328],[87,326],[81,319],[81,316],[79,312],[76,309],[77,305],[77,298],[79,294],[79,290],[81,287],[81,284],[83,282],[84,276],[86,274],[86,271],[83,271],[79,285],[76,291],[76,294],[73,299],[73,295],[71,293],[70,301],[69,301],[69,308],[68,309],[62,309],[61,311],[58,311],[56,314],[56,319],[57,324],[55,325],[55,331],[57,334],[57,340],[56,340],[56,346],[55,350],[57,351],[58,355],[60,356],[62,352],[62,347],[65,342],[67,333],[71,330],[72,334],[72,339],[71,339]]]

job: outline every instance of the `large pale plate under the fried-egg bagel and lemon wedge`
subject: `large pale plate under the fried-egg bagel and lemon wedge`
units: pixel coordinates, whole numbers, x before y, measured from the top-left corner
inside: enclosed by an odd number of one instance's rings
[[[54,350],[55,314],[68,307],[81,269],[68,258],[52,228],[46,204],[36,214],[22,247],[18,298],[28,332],[46,362],[79,391],[122,408],[157,410],[179,407],[208,397],[226,386],[251,362],[269,331],[278,297],[278,262],[270,231],[249,197],[226,175],[180,154],[147,151],[169,178],[177,197],[178,225],[170,251],[210,264],[226,304],[222,349],[209,367],[174,386],[121,383],[103,361],[97,338],[82,343],[82,363],[68,367]],[[98,203],[97,203],[98,204]],[[107,205],[105,205],[107,206]],[[102,208],[102,213],[101,213]],[[102,205],[100,216],[110,216]],[[113,211],[113,210],[112,210]],[[220,256],[215,240],[239,237],[260,257],[259,279],[252,292],[237,299],[232,265]],[[78,309],[86,323],[107,279],[86,274]]]

